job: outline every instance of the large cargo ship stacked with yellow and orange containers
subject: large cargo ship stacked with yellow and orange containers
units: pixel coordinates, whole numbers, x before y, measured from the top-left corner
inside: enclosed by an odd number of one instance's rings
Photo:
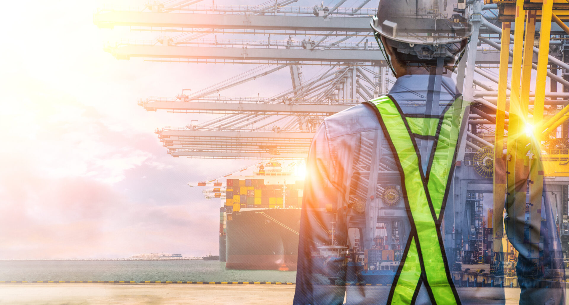
[[[220,211],[226,269],[296,270],[303,186],[304,175],[283,170],[274,159],[253,175],[227,177]]]

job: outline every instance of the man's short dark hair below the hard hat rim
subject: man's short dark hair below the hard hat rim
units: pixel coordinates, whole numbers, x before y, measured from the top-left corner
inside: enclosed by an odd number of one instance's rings
[[[452,70],[458,64],[467,44],[467,39],[460,43],[431,46],[402,43],[385,36],[383,38],[387,45],[393,48],[395,60],[405,67],[436,66],[437,57],[444,56],[444,67]]]

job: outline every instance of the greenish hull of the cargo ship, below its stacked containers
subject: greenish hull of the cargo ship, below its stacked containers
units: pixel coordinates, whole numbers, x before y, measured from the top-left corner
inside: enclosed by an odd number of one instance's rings
[[[296,270],[300,209],[254,209],[231,218],[226,269]]]

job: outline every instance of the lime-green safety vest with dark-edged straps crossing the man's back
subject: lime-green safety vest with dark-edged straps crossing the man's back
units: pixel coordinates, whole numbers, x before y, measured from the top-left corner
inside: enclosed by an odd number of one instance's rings
[[[377,109],[385,137],[397,160],[411,224],[410,238],[387,304],[414,303],[422,284],[434,304],[460,304],[448,269],[440,224],[456,158],[464,107],[462,99],[453,102],[440,117],[405,116],[389,96],[368,103]],[[416,138],[434,140],[424,171]]]

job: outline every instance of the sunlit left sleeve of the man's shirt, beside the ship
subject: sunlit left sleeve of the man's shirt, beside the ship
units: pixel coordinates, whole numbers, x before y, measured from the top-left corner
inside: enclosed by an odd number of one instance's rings
[[[333,279],[326,274],[324,260],[312,255],[318,253],[318,246],[331,244],[328,230],[341,193],[333,179],[336,175],[325,121],[312,139],[306,168],[293,304],[342,304],[345,286],[331,285]]]

